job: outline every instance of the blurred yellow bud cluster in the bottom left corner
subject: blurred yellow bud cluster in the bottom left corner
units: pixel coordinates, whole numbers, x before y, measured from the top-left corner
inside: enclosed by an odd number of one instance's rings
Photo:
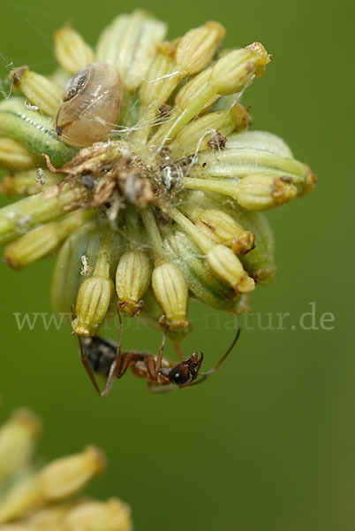
[[[37,469],[41,427],[27,410],[13,412],[0,427],[0,531],[131,531],[130,508],[118,498],[72,499],[102,473],[102,450],[87,446]]]

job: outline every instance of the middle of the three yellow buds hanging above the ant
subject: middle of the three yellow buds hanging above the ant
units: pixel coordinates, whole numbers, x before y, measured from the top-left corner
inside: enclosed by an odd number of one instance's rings
[[[142,250],[126,250],[118,262],[116,290],[119,309],[128,317],[139,315],[151,277],[149,258]]]

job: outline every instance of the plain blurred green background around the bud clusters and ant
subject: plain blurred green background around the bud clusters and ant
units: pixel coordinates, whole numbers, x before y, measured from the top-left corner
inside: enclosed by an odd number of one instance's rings
[[[277,280],[256,290],[252,306],[263,327],[268,312],[274,319],[290,312],[286,329],[262,330],[254,316],[249,320],[254,329],[247,330],[240,320],[238,347],[217,374],[194,389],[151,396],[144,381],[127,374],[100,400],[80,366],[69,327],[17,329],[14,312],[51,312],[52,260],[21,273],[0,265],[0,418],[19,405],[39,413],[46,428],[44,459],[87,443],[102,446],[110,466],[90,491],[128,501],[138,531],[353,530],[354,4],[2,0],[0,5],[2,79],[8,62],[50,72],[51,34],[64,21],[71,19],[94,43],[114,16],[135,7],[166,20],[171,38],[216,19],[227,28],[228,47],[263,42],[274,61],[244,96],[245,104],[253,104],[253,127],[282,135],[319,175],[313,194],[268,214],[276,233]],[[299,317],[310,311],[310,303],[318,329],[305,330]],[[212,366],[233,336],[230,318],[199,304],[190,312],[200,322],[185,352],[203,350],[206,367]],[[327,323],[331,330],[320,327],[325,312],[335,316]],[[109,331],[112,337],[116,333]],[[140,327],[138,333],[131,324],[124,347],[156,351],[160,340],[156,332]]]

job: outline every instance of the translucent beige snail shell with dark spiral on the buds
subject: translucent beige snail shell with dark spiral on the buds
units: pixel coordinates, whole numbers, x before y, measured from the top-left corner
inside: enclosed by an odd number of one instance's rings
[[[124,89],[117,70],[92,63],[72,76],[55,120],[64,142],[84,148],[109,137],[121,113]]]

